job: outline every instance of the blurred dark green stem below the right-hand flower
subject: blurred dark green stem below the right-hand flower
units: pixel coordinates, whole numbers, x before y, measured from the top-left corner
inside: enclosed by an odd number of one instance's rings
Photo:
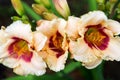
[[[104,77],[103,77],[103,63],[100,64],[95,69],[92,69],[91,73],[92,73],[92,76],[93,76],[93,80],[104,80]]]

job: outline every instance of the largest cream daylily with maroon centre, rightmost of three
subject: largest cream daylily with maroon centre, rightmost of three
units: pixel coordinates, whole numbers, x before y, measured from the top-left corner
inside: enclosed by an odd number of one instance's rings
[[[72,58],[92,69],[102,60],[120,61],[120,23],[107,19],[102,11],[81,18],[69,17],[66,33]]]

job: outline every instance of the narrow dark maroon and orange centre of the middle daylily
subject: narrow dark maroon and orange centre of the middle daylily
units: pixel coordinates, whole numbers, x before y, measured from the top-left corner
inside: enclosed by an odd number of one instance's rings
[[[52,36],[49,41],[49,47],[51,50],[57,52],[57,58],[64,54],[64,50],[62,49],[62,41],[63,37],[58,32],[56,33],[56,35]]]

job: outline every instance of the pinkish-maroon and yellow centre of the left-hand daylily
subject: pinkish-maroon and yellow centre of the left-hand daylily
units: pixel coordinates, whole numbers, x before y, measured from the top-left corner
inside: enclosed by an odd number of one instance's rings
[[[12,54],[14,58],[22,58],[26,62],[30,62],[32,58],[32,52],[29,51],[28,42],[19,39],[13,38],[15,41],[8,47],[8,51]]]

